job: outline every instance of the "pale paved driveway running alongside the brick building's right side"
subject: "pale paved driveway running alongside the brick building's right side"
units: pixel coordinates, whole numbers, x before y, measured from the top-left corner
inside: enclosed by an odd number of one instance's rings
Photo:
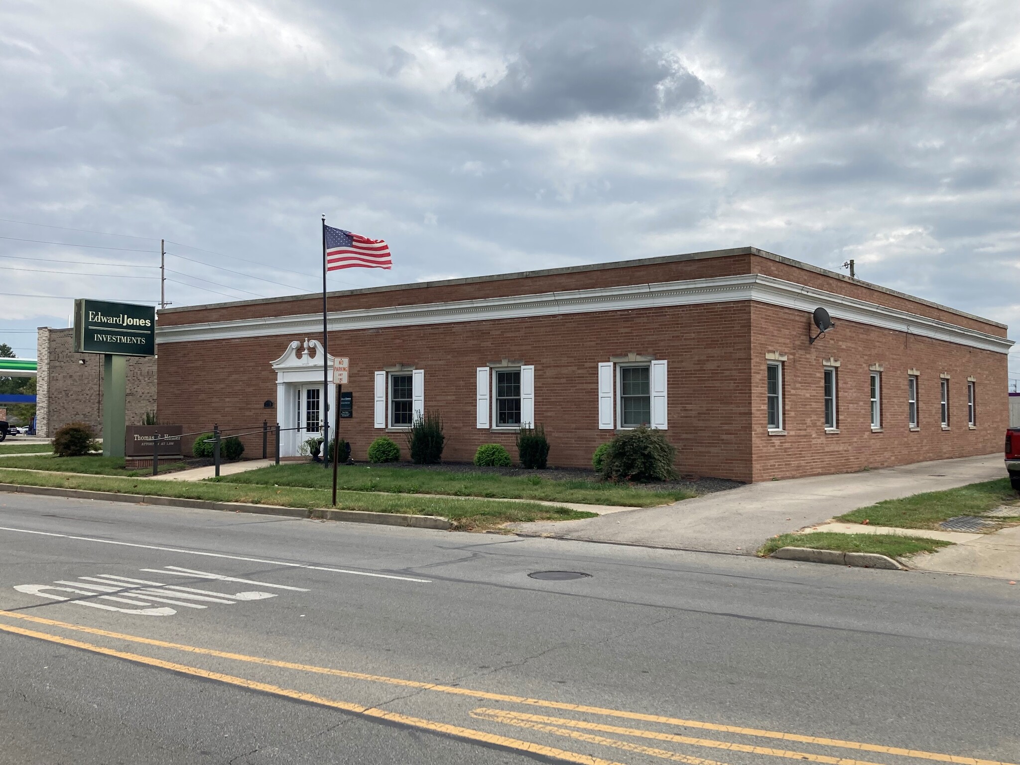
[[[514,523],[526,534],[753,555],[765,540],[859,507],[1006,477],[1002,454],[749,483],[672,505],[584,520]]]

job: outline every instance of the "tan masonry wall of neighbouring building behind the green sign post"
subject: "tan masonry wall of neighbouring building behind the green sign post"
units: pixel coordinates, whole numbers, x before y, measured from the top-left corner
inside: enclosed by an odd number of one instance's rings
[[[38,432],[53,437],[68,422],[88,422],[103,431],[103,357],[74,353],[74,330],[39,327],[36,380]],[[82,363],[84,362],[84,363]],[[126,423],[142,423],[156,409],[156,359],[128,359]]]

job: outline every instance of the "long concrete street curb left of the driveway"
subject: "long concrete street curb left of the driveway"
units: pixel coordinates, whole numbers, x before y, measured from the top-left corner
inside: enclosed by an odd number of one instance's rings
[[[189,500],[177,497],[154,497],[148,494],[116,494],[114,492],[90,492],[84,489],[57,489],[55,487],[27,487],[19,483],[0,483],[0,492],[12,494],[39,494],[44,497],[63,497],[75,500],[102,500],[104,502],[124,502],[135,505],[161,505],[164,507],[186,507],[196,510],[221,510],[232,513],[255,513],[258,515],[283,515],[289,518],[319,518],[322,520],[343,520],[348,523],[375,523],[384,526],[405,526],[410,528],[431,528],[449,531],[453,527],[446,518],[435,515],[404,515],[401,513],[373,513],[367,510],[333,510],[318,508],[306,510],[300,507],[278,505],[254,505],[246,502],[212,502],[209,500]]]

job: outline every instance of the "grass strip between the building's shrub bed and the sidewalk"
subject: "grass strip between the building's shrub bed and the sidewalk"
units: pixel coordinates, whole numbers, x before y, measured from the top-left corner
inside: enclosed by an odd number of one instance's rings
[[[263,483],[280,487],[324,489],[332,486],[333,471],[316,464],[271,465],[220,480],[232,483]],[[396,494],[444,494],[549,502],[582,502],[589,505],[652,507],[695,496],[683,490],[651,491],[596,480],[554,480],[538,475],[463,473],[446,470],[367,465],[341,465],[337,486],[352,492]]]

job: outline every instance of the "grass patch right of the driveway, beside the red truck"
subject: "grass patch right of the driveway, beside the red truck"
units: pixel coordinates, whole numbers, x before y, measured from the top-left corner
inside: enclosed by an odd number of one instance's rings
[[[937,528],[939,522],[947,518],[980,515],[1016,501],[1017,493],[1010,488],[1010,479],[999,478],[945,492],[926,492],[901,500],[885,500],[840,515],[836,520],[845,523],[867,520],[873,526],[897,528]],[[1020,507],[1017,508],[1017,515],[1020,516]]]

